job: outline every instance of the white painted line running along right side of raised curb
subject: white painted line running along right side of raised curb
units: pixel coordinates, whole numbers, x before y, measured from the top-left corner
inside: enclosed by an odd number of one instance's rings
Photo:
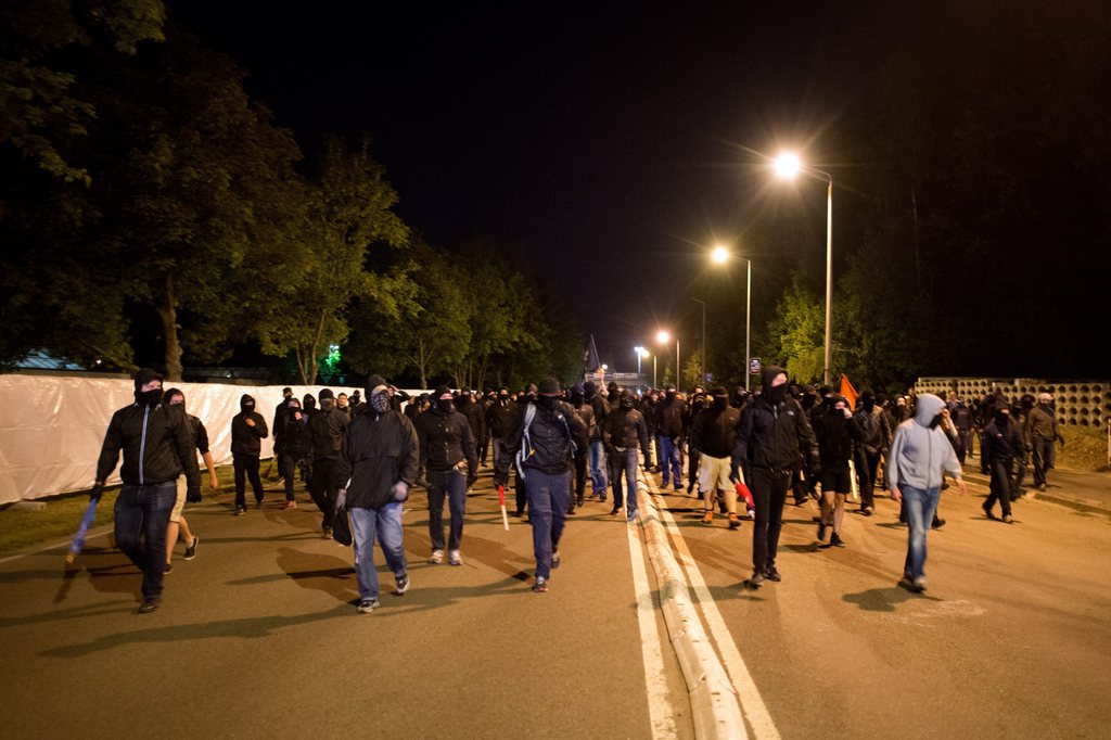
[[[718,604],[714,602],[710,589],[705,586],[705,580],[702,578],[702,572],[698,568],[698,563],[694,562],[694,558],[687,548],[682,532],[675,524],[675,520],[667,506],[659,499],[659,489],[655,487],[655,481],[652,479],[648,479],[648,481],[649,490],[653,494],[651,498],[652,506],[655,507],[660,516],[660,521],[664,523],[668,533],[671,536],[675,559],[687,572],[687,579],[690,582],[695,599],[698,599],[702,617],[710,629],[713,641],[717,643],[718,654],[721,657],[725,672],[733,683],[733,690],[737,692],[738,699],[740,699],[741,711],[744,712],[744,718],[752,728],[752,736],[765,740],[779,738],[775,723],[772,721],[771,714],[764,706],[763,698],[760,696],[760,691],[752,680],[752,674],[749,673],[748,666],[744,664],[744,659],[741,658],[741,652],[733,641],[732,633],[725,627],[725,620],[721,617],[721,612],[718,610]]]

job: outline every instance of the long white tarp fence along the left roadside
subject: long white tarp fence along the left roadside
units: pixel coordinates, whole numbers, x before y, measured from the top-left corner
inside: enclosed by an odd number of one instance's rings
[[[203,422],[216,463],[231,463],[231,418],[243,393],[273,422],[283,386],[163,383],[186,394],[186,410]],[[290,386],[297,398],[317,396],[323,386]],[[348,396],[354,388],[330,386]],[[0,376],[0,503],[80,491],[92,486],[104,432],[112,414],[134,402],[134,384],[122,378]],[[262,440],[262,457],[273,454],[273,430]],[[119,483],[119,462],[108,479]]]

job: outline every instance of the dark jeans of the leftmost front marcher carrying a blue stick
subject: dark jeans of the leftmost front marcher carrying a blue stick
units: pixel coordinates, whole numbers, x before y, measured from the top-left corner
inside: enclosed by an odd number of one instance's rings
[[[124,486],[116,499],[116,547],[142,571],[144,601],[162,596],[166,527],[177,500],[178,484],[172,480],[157,486]]]

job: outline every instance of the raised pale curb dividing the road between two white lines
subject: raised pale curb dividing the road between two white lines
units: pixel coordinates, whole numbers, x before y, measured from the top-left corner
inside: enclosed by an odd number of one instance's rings
[[[667,544],[667,532],[655,506],[653,499],[652,509],[641,507],[640,522],[659,584],[668,637],[687,682],[694,737],[707,740],[748,737],[737,693],[698,617],[679,561]]]

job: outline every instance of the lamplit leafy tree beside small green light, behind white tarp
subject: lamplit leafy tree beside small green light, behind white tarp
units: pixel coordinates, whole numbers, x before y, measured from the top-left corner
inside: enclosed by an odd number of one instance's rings
[[[411,310],[414,286],[404,266],[368,269],[377,252],[397,252],[409,239],[392,210],[397,192],[371,158],[368,139],[353,148],[328,140],[319,176],[302,198],[284,279],[270,286],[256,332],[266,353],[292,352],[302,382],[311,384],[328,348],[348,339],[357,301],[372,304],[379,322],[393,324]]]

